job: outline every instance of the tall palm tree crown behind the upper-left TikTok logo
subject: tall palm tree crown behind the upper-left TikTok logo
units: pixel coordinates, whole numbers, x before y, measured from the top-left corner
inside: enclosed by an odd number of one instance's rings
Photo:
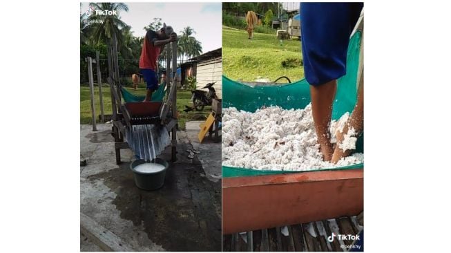
[[[89,3],[89,6],[95,10],[116,10],[117,15],[90,15],[88,21],[91,22],[93,32],[92,39],[94,43],[104,42],[116,35],[118,44],[122,44],[124,36],[121,30],[128,25],[119,18],[119,11],[128,12],[128,6],[125,3]]]

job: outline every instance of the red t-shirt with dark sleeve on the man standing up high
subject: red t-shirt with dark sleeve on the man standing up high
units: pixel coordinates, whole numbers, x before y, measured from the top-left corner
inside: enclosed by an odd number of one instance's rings
[[[160,55],[161,48],[159,46],[153,46],[153,41],[156,40],[157,32],[148,30],[141,50],[140,68],[151,69],[153,71],[157,69],[157,59]]]

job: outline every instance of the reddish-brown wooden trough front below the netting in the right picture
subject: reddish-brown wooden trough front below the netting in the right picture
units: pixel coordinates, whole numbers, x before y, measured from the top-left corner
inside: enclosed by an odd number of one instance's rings
[[[222,179],[222,234],[362,211],[363,167]]]

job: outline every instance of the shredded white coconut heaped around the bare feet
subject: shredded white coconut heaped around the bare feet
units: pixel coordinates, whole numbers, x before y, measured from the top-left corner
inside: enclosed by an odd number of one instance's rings
[[[311,104],[305,109],[284,110],[278,106],[258,109],[255,113],[222,110],[222,164],[260,170],[307,171],[343,167],[363,162],[363,153],[354,153],[336,164],[323,161],[317,142]],[[332,120],[332,142],[336,130],[343,131],[349,113]],[[342,149],[356,149],[355,137],[349,133],[339,144]],[[354,144],[352,143],[354,142]]]

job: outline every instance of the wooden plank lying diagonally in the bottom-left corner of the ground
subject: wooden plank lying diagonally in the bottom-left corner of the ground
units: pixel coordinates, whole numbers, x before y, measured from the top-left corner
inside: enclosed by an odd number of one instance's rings
[[[93,243],[101,247],[102,250],[113,252],[135,251],[131,246],[122,241],[119,236],[82,213],[80,214],[80,230]]]

